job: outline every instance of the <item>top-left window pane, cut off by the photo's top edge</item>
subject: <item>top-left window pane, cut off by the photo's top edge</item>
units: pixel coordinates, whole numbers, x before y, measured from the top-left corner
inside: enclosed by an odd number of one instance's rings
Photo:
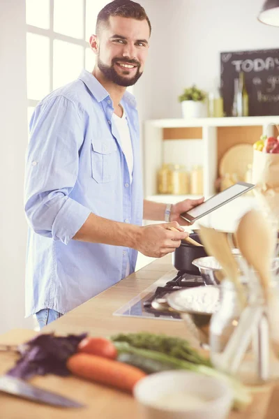
[[[50,0],[26,0],[27,24],[50,29]]]

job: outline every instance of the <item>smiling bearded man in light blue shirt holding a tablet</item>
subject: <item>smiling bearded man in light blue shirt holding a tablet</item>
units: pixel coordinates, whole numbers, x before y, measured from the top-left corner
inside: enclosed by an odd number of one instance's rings
[[[169,214],[142,198],[138,115],[126,87],[142,75],[150,34],[140,4],[107,4],[90,38],[93,72],[52,92],[31,118],[26,315],[40,327],[133,272],[137,251],[174,251],[187,236],[179,214],[202,202]],[[143,227],[143,217],[171,222]]]

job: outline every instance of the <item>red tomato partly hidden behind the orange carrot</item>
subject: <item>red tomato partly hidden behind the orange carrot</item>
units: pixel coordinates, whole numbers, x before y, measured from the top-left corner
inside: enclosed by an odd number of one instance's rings
[[[86,337],[80,341],[77,351],[103,356],[111,360],[115,360],[117,357],[116,347],[112,341],[105,339],[105,337]]]

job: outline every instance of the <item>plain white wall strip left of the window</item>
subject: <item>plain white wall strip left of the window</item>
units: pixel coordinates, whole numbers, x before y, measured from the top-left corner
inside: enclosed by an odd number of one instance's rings
[[[24,320],[27,224],[23,210],[27,146],[25,1],[0,1],[0,333]]]

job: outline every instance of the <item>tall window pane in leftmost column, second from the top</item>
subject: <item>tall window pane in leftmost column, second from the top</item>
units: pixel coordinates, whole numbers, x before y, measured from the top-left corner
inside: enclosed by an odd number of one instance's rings
[[[50,39],[27,32],[27,97],[40,100],[50,93]]]

